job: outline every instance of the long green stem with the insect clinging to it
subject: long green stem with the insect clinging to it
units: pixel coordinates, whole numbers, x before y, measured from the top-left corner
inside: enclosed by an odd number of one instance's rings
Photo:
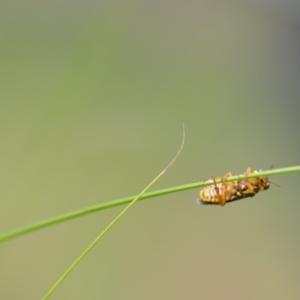
[[[268,171],[264,171],[264,172],[259,172],[259,173],[250,173],[248,176],[243,176],[243,175],[238,175],[238,176],[232,176],[232,177],[228,177],[226,179],[227,182],[230,181],[235,181],[235,180],[239,180],[239,179],[245,179],[247,178],[254,178],[254,177],[258,177],[258,176],[273,176],[273,175],[281,175],[281,174],[287,174],[287,173],[293,173],[293,172],[300,172],[300,166],[294,166],[294,167],[287,167],[287,168],[281,168],[281,169],[273,169],[273,170],[268,170]],[[216,179],[216,183],[221,183],[221,179]],[[212,185],[213,183],[207,183],[207,182],[196,182],[196,183],[191,183],[191,184],[185,184],[185,185],[181,185],[181,186],[176,186],[176,187],[172,187],[172,188],[167,188],[167,189],[163,189],[163,190],[158,190],[158,191],[154,191],[151,193],[146,193],[143,194],[141,197],[139,197],[139,199],[137,201],[140,200],[145,200],[145,199],[149,199],[149,198],[153,198],[153,197],[158,197],[158,196],[162,196],[162,195],[167,195],[167,194],[172,194],[172,193],[178,193],[178,192],[183,192],[186,190],[190,190],[190,189],[195,189],[195,188],[200,188],[200,187],[204,187],[204,186],[208,186],[208,185]],[[126,197],[123,199],[119,199],[119,200],[114,200],[114,201],[110,201],[110,202],[106,202],[106,203],[102,203],[102,204],[98,204],[95,206],[90,206],[84,209],[80,209],[77,211],[73,211],[67,214],[63,214],[57,217],[53,217],[47,220],[43,220],[34,224],[30,224],[21,228],[17,228],[15,230],[3,233],[0,235],[0,243],[7,241],[9,239],[12,238],[16,238],[18,236],[42,229],[44,227],[48,227],[51,225],[55,225],[55,224],[59,224],[61,222],[65,222],[68,220],[72,220],[81,216],[85,216],[88,215],[90,213],[94,213],[100,210],[104,210],[107,208],[112,208],[115,206],[119,206],[119,205],[123,205],[123,204],[127,204],[129,202],[131,202],[133,199],[135,198],[135,196],[132,197]]]

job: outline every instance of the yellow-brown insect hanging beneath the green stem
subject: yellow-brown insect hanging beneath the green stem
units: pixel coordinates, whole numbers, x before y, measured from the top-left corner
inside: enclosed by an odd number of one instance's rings
[[[262,172],[262,170],[259,169],[253,171],[253,173],[259,172]],[[251,168],[247,168],[243,175],[248,175],[250,173]],[[221,177],[221,183],[216,183],[216,178],[207,180],[206,182],[213,182],[214,184],[205,187],[199,192],[197,203],[224,206],[227,202],[253,197],[259,191],[267,190],[270,187],[270,181],[268,177],[265,176],[226,182],[226,178],[231,176],[231,172],[226,173],[223,177]]]

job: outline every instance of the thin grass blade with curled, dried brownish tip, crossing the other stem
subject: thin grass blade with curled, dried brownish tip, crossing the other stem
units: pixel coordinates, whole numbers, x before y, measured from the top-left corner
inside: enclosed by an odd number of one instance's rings
[[[166,171],[172,166],[175,160],[180,155],[184,140],[185,140],[185,128],[183,125],[183,136],[181,146],[178,153],[171,160],[171,162],[115,217],[115,219],[100,233],[100,235],[79,255],[79,257],[72,263],[72,265],[66,270],[66,272],[56,281],[56,283],[51,287],[47,294],[43,297],[43,300],[48,299],[53,292],[58,288],[58,286],[66,279],[66,277],[74,270],[74,268],[79,264],[79,262],[92,250],[94,246],[103,238],[103,236],[119,221],[124,214],[134,205],[134,203],[156,182],[158,181]]]

